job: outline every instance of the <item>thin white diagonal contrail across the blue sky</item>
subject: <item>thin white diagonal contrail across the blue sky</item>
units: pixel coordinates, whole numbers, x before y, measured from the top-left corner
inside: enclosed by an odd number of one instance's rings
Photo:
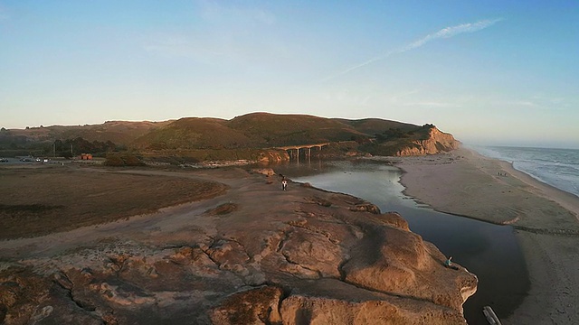
[[[502,18],[493,19],[493,20],[482,20],[482,21],[479,21],[476,23],[462,23],[460,25],[443,28],[440,31],[429,34],[429,35],[423,37],[422,39],[420,39],[416,42],[412,42],[410,44],[407,44],[400,49],[396,49],[394,51],[389,51],[383,55],[377,56],[377,57],[372,58],[370,60],[366,60],[365,62],[362,62],[360,64],[356,64],[353,67],[350,67],[346,70],[340,71],[334,75],[331,75],[325,79],[322,79],[321,82],[326,82],[328,80],[335,79],[339,76],[343,76],[346,73],[349,73],[349,72],[354,71],[354,70],[358,70],[362,67],[367,66],[368,64],[374,63],[375,61],[384,60],[393,54],[403,53],[405,51],[410,51],[410,50],[419,48],[422,45],[426,44],[427,42],[432,42],[434,40],[438,40],[438,39],[442,39],[442,38],[451,38],[453,36],[456,36],[456,35],[464,33],[464,32],[477,32],[477,31],[483,30],[487,27],[490,27],[493,24],[498,23],[502,20],[503,20]]]

